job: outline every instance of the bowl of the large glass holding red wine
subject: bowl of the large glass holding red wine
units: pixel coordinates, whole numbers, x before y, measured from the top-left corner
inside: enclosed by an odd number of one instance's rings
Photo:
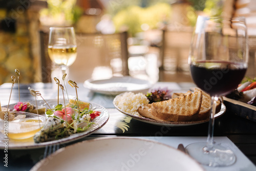
[[[244,17],[198,17],[188,64],[199,88],[211,96],[227,94],[243,79],[247,62]]]

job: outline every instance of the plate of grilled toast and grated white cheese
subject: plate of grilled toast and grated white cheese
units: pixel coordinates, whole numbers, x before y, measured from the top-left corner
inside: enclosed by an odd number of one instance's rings
[[[160,126],[189,126],[209,121],[210,96],[199,89],[194,93],[177,93],[179,95],[172,99],[151,104],[145,103],[142,94],[126,97],[128,93],[117,95],[113,103],[118,111],[136,120]],[[225,112],[226,106],[219,99],[214,117]]]

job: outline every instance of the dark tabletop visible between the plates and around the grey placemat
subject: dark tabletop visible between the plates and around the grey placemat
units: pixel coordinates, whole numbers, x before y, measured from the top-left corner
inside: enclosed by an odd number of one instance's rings
[[[83,88],[82,84],[79,85],[79,93],[88,95],[88,90]],[[192,83],[179,83],[177,84],[181,90],[188,89],[193,86]],[[39,91],[45,99],[52,99],[57,94],[57,90],[52,88],[51,83],[34,83],[34,84],[21,84],[20,85],[20,101],[34,100],[34,97],[28,91],[28,87],[34,88]],[[172,89],[172,88],[170,88]],[[0,86],[0,101],[1,105],[8,104],[10,96],[11,84],[5,83]],[[74,91],[69,89],[69,91]],[[74,93],[71,93],[74,94]],[[98,96],[98,98],[97,98]],[[105,105],[105,108],[110,113],[110,119],[102,129],[96,131],[90,137],[108,137],[108,136],[129,136],[129,137],[151,137],[151,136],[206,136],[208,130],[208,123],[201,123],[190,126],[180,127],[168,127],[158,126],[148,123],[141,122],[139,120],[132,119],[126,115],[120,113],[113,108],[112,104],[109,104],[113,100],[114,96],[105,95],[104,98],[99,94],[94,94],[93,97],[88,100],[97,102],[98,99],[104,99],[98,102]],[[18,101],[18,88],[17,85],[13,88],[10,103]],[[108,102],[106,102],[108,101]],[[104,105],[103,105],[104,106]],[[120,126],[120,122],[124,126]],[[125,126],[126,125],[126,126]],[[236,146],[241,150],[242,153],[255,165],[256,164],[256,123],[234,115],[227,108],[225,114],[215,120],[215,131],[214,136],[225,136],[228,137]],[[88,138],[88,137],[87,137]],[[83,139],[82,139],[83,140]],[[78,140],[81,141],[81,140]],[[78,142],[75,141],[75,142]],[[72,143],[75,143],[72,142]],[[69,144],[61,144],[60,147],[67,146]],[[33,151],[33,155],[30,153]],[[19,150],[8,150],[9,168],[0,165],[1,170],[29,170],[36,162],[38,162],[44,156],[45,148],[37,149],[19,149]],[[0,156],[3,160],[4,152],[1,150]],[[3,163],[3,162],[1,162]]]

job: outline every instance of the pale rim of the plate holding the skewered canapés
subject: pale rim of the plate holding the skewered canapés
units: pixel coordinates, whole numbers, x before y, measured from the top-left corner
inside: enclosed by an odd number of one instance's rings
[[[53,107],[53,104],[55,102],[57,103],[57,100],[47,100],[48,104]],[[33,101],[31,103],[35,104]],[[8,148],[9,149],[26,149],[26,148],[40,148],[40,147],[45,147],[47,145],[53,145],[53,144],[58,144],[58,143],[68,143],[72,142],[78,139],[81,139],[83,137],[87,137],[94,133],[95,131],[99,130],[108,120],[109,120],[109,112],[103,108],[101,105],[90,102],[93,107],[97,109],[97,111],[100,111],[101,114],[100,116],[96,117],[93,122],[95,124],[92,124],[88,130],[82,132],[82,133],[76,133],[72,134],[69,137],[53,140],[53,141],[48,141],[48,142],[41,142],[41,143],[35,143],[33,140],[33,137],[28,138],[28,139],[20,139],[20,140],[14,140],[14,139],[9,139],[8,142]],[[37,100],[38,105],[46,105],[43,100]],[[10,105],[10,109],[13,109],[14,104]],[[48,108],[47,108],[48,109]],[[0,133],[0,149],[4,149],[4,134]],[[2,142],[3,141],[3,142]]]

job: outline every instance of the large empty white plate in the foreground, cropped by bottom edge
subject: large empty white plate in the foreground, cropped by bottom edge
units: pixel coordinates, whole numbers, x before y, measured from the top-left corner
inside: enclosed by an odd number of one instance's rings
[[[136,138],[97,138],[59,149],[31,170],[204,170],[171,146]]]

